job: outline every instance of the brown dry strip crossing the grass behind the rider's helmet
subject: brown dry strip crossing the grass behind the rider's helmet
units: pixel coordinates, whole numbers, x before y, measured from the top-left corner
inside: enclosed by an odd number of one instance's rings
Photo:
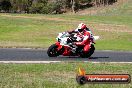
[[[37,20],[49,20],[49,21],[65,21],[67,23],[72,23],[75,25],[78,25],[82,21],[76,21],[76,20],[65,20],[62,18],[50,18],[46,16],[39,16],[39,17],[29,17],[29,16],[11,16],[11,15],[1,15],[4,17],[12,17],[12,18],[31,18],[31,19],[37,19]],[[85,21],[83,21],[85,23]],[[88,27],[91,29],[96,29],[100,31],[108,31],[108,32],[127,32],[132,33],[132,30],[130,27],[126,25],[115,25],[115,24],[102,24],[102,23],[96,23],[96,22],[90,22]]]

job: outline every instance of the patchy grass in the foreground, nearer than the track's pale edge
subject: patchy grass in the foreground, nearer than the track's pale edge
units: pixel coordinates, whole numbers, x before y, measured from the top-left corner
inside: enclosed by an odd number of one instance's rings
[[[86,84],[80,86],[75,77],[81,66],[88,74],[130,74],[131,64],[0,64],[1,88],[130,88],[132,84]]]

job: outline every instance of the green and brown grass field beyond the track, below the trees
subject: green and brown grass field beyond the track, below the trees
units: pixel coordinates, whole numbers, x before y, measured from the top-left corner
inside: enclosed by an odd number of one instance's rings
[[[0,14],[0,47],[48,48],[59,32],[84,22],[95,35],[98,50],[132,50],[132,1],[96,15]],[[106,9],[107,10],[107,9]]]

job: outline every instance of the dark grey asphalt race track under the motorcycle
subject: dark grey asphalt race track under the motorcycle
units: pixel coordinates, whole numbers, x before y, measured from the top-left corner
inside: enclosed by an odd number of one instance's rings
[[[132,52],[95,51],[90,58],[48,57],[43,49],[0,49],[0,61],[95,61],[95,62],[132,62]]]

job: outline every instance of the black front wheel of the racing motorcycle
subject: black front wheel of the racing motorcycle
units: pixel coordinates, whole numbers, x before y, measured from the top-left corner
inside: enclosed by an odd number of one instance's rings
[[[56,44],[53,44],[48,48],[47,54],[49,57],[57,57],[58,56]]]

